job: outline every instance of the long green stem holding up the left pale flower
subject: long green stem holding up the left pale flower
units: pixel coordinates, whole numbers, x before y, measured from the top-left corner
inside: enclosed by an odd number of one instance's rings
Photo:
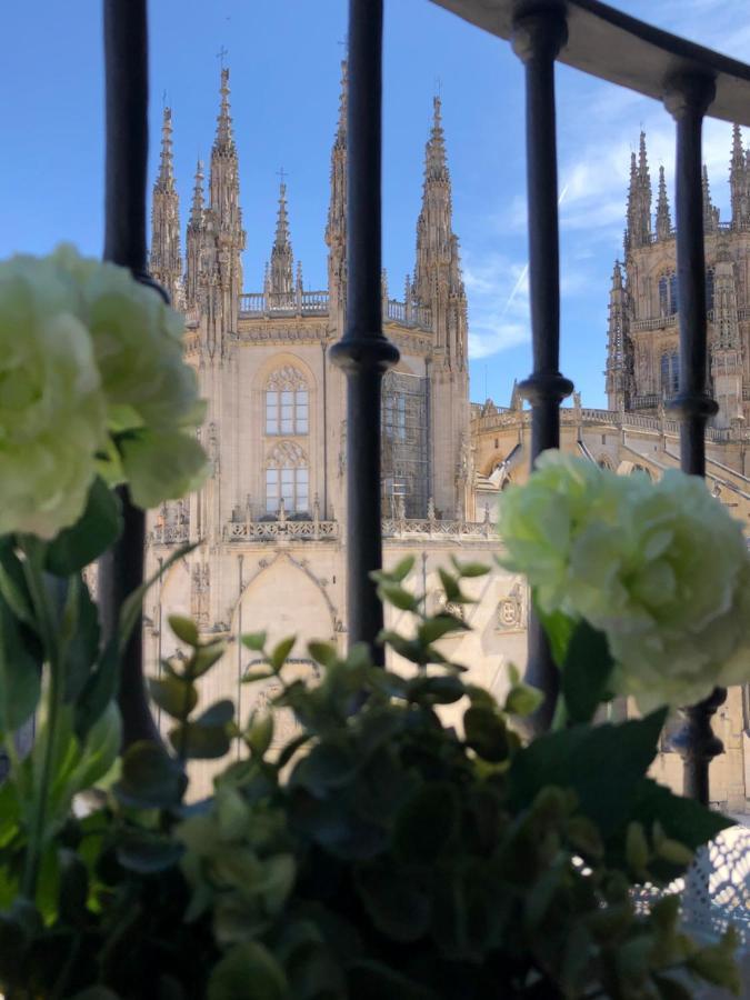
[[[29,824],[29,842],[27,846],[21,880],[21,892],[33,900],[37,892],[37,880],[44,840],[49,788],[52,777],[52,763],[57,737],[58,719],[62,707],[62,662],[57,641],[54,609],[44,586],[43,562],[44,543],[39,539],[24,536],[21,548],[26,554],[23,572],[33,604],[39,636],[44,647],[44,659],[49,667],[49,686],[47,690],[47,741],[43,748],[39,780],[32,781],[31,822]],[[33,750],[32,750],[33,753]]]

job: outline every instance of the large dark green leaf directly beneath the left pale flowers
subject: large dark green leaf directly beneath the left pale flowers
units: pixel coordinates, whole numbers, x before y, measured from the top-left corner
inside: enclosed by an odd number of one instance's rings
[[[121,531],[120,501],[97,477],[80,519],[48,544],[46,568],[58,577],[70,577],[110,549]]]

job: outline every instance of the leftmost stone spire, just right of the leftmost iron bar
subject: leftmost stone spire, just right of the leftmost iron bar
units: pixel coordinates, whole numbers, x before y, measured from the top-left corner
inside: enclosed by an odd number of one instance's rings
[[[180,257],[180,201],[174,187],[172,160],[172,109],[164,108],[161,124],[161,158],[153,184],[151,204],[151,256],[154,279],[168,292],[174,306],[182,298],[182,258]]]

